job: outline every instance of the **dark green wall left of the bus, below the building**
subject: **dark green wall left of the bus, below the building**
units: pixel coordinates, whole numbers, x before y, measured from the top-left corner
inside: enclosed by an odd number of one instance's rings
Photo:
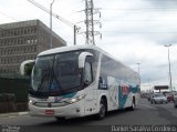
[[[0,112],[28,110],[30,79],[0,78]]]

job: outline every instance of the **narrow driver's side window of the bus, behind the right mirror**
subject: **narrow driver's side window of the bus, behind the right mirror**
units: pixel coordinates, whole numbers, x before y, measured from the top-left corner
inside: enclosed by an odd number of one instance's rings
[[[84,69],[84,82],[85,84],[92,83],[92,67],[90,62],[85,62],[85,69]]]

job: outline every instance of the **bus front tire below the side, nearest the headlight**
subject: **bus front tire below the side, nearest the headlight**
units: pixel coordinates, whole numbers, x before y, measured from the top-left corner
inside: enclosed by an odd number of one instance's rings
[[[96,119],[102,120],[106,114],[106,99],[102,98],[100,101],[100,111],[96,114]]]

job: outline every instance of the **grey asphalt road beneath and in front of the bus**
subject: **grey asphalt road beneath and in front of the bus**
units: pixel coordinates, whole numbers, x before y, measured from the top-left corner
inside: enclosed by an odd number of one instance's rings
[[[70,119],[58,122],[54,118],[30,115],[7,115],[0,118],[0,131],[14,129],[23,131],[113,131],[114,125],[177,125],[177,109],[173,103],[150,104],[142,99],[134,111],[118,110],[110,112],[104,120],[94,116]],[[18,128],[19,126],[19,128]]]

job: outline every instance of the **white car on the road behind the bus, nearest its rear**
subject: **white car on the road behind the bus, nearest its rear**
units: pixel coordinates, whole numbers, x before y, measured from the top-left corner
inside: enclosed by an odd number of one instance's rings
[[[163,93],[155,93],[150,99],[150,103],[168,103],[167,98]]]

